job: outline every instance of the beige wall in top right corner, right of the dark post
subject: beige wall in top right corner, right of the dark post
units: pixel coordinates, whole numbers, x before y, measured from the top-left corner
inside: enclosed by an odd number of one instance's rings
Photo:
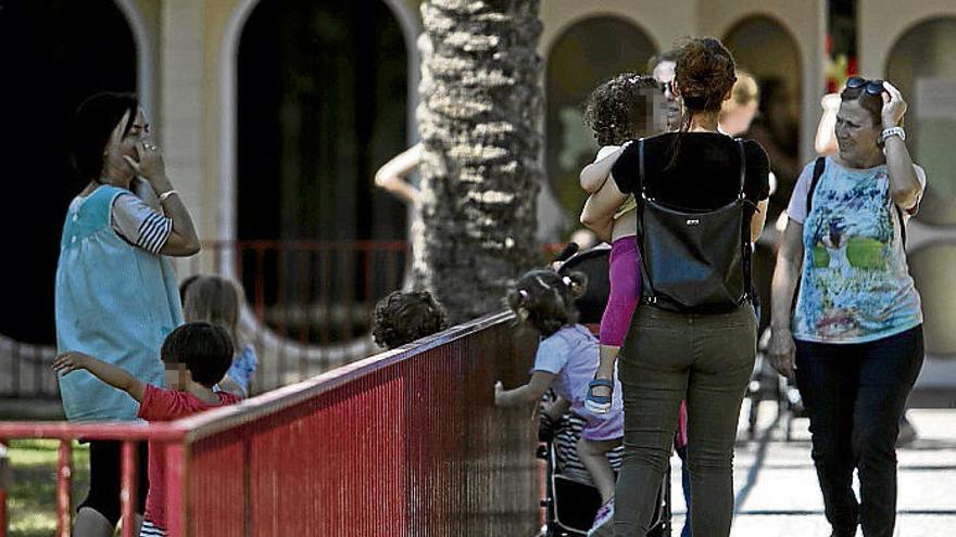
[[[905,5],[906,9],[901,9]],[[859,72],[869,77],[886,73],[893,46],[913,26],[928,18],[956,16],[954,0],[858,0]]]

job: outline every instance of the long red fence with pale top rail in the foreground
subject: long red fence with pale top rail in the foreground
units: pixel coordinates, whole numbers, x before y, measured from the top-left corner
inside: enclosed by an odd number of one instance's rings
[[[533,359],[510,323],[489,316],[168,424],[0,423],[0,439],[165,443],[176,536],[532,535],[531,408],[493,407],[493,382],[517,384]]]

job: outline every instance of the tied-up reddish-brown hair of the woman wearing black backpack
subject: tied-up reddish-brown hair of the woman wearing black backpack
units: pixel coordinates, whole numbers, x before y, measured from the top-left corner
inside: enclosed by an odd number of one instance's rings
[[[713,37],[691,39],[677,51],[675,80],[691,112],[719,112],[737,81],[730,51]]]

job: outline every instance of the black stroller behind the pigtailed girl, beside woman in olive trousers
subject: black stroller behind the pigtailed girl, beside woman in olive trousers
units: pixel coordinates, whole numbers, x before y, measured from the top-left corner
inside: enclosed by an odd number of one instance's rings
[[[558,273],[579,271],[588,276],[588,287],[576,305],[579,321],[596,331],[607,304],[611,282],[607,274],[611,247],[607,245],[575,254],[564,259]],[[538,457],[546,463],[545,497],[541,500],[545,515],[546,537],[583,536],[588,534],[594,515],[601,508],[601,495],[577,456],[577,442],[584,421],[568,412],[552,423],[542,412],[538,438],[542,443]],[[618,471],[624,449],[607,453],[612,468]],[[658,491],[654,525],[647,534],[653,537],[670,535],[670,470],[668,468]]]

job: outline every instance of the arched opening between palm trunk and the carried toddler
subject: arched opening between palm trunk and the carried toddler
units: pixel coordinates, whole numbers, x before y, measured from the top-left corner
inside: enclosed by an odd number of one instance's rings
[[[577,22],[555,39],[545,75],[545,166],[567,229],[578,227],[577,216],[587,199],[578,174],[599,149],[582,119],[584,101],[598,85],[615,75],[644,73],[656,52],[646,33],[613,16]]]

